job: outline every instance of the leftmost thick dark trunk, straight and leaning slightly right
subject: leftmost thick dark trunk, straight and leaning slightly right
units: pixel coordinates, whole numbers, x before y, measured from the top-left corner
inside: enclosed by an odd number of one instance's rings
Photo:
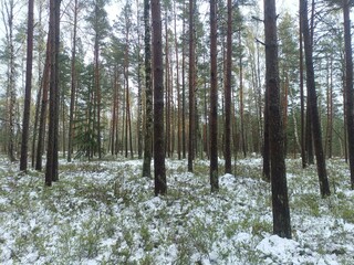
[[[29,132],[30,132],[30,110],[31,110],[31,88],[32,88],[32,62],[33,62],[33,9],[34,1],[29,0],[28,29],[27,29],[27,65],[25,65],[25,88],[22,121],[22,141],[20,170],[27,170]]]

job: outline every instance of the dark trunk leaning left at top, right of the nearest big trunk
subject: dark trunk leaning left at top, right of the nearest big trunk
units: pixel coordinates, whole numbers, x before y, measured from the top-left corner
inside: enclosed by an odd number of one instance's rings
[[[317,174],[320,181],[320,191],[322,197],[327,197],[331,194],[330,184],[327,180],[327,173],[325,168],[325,158],[322,147],[322,131],[317,109],[317,97],[315,91],[315,81],[314,81],[314,70],[313,70],[313,59],[312,59],[312,44],[311,35],[309,30],[309,19],[308,19],[308,0],[301,0],[301,18],[302,18],[302,34],[304,41],[304,51],[305,51],[305,62],[306,62],[306,85],[308,85],[308,97],[309,97],[309,107],[310,116],[312,121],[312,135],[313,144],[316,156],[317,163]]]

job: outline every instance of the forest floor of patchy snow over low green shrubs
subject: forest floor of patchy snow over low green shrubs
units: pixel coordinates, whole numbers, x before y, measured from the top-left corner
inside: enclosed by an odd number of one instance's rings
[[[19,173],[0,158],[0,264],[353,264],[348,166],[327,161],[332,195],[315,167],[287,160],[292,240],[272,235],[261,159],[237,161],[210,194],[209,162],[166,160],[168,194],[154,197],[142,160],[60,161],[60,181]],[[220,172],[223,170],[220,165]]]

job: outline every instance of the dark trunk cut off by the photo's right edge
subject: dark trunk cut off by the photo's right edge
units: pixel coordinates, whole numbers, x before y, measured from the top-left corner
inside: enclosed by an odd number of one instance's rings
[[[353,91],[353,55],[351,36],[350,0],[343,0],[344,41],[345,41],[345,94],[346,94],[346,129],[351,170],[351,187],[354,190],[354,91]]]

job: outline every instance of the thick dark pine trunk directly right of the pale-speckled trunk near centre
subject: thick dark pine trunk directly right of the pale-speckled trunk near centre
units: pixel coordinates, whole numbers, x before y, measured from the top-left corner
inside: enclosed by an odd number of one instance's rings
[[[152,0],[153,65],[154,65],[154,169],[155,195],[167,192],[164,139],[164,65],[162,36],[162,8]]]

